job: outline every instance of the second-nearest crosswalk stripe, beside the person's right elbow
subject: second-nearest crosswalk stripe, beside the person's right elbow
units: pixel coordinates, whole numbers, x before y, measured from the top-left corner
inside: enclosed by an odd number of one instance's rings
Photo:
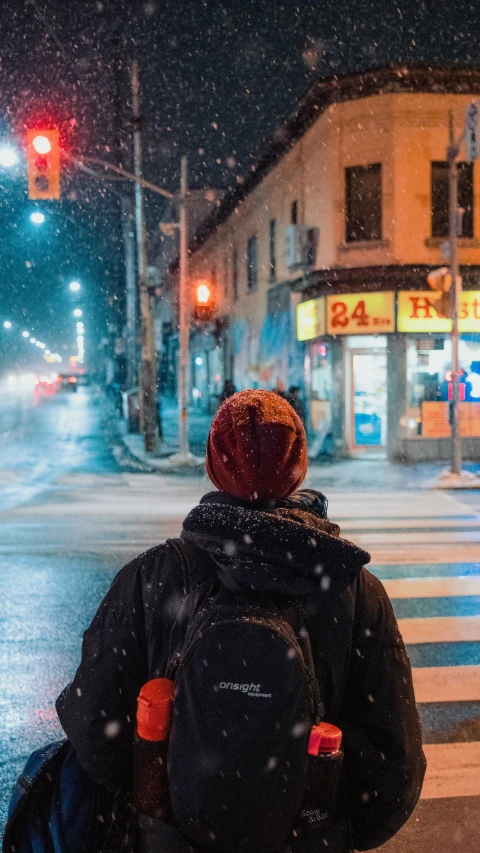
[[[480,702],[480,665],[412,670],[415,698],[423,702]]]

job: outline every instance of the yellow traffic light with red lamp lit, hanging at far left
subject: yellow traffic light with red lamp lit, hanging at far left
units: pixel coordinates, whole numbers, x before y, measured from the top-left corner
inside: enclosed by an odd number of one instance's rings
[[[60,198],[60,138],[58,128],[27,131],[28,197]]]

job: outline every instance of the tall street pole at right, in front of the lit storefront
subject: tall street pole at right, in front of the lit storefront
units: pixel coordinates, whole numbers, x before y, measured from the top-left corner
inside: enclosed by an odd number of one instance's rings
[[[458,170],[457,157],[461,140],[455,143],[455,128],[453,113],[449,115],[449,145],[448,160],[448,237],[450,242],[450,277],[451,277],[451,314],[452,314],[452,474],[460,474],[462,470],[462,437],[460,434],[460,376],[458,361],[458,314],[462,295],[462,279],[458,269]]]

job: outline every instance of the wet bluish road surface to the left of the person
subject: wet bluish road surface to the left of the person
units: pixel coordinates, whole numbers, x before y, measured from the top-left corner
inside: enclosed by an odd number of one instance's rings
[[[0,826],[27,756],[62,736],[54,701],[112,578],[201,493],[182,479],[166,505],[168,481],[120,464],[95,391],[32,399],[0,393]]]

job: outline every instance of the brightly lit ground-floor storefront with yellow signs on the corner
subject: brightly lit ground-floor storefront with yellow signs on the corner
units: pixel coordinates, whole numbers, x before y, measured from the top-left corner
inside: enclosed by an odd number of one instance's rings
[[[297,307],[305,342],[305,387],[315,450],[392,459],[448,458],[451,321],[432,291],[320,296]],[[461,431],[480,458],[480,291],[460,310]]]

